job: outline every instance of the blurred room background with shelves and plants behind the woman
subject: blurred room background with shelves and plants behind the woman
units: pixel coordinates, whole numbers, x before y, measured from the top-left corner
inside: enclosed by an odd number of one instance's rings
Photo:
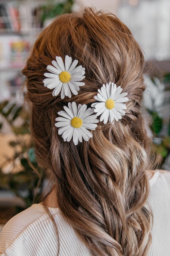
[[[170,0],[0,0],[0,230],[28,208],[48,182],[29,142],[21,70],[38,33],[57,15],[84,6],[115,13],[141,45],[148,134],[160,168],[170,170]]]

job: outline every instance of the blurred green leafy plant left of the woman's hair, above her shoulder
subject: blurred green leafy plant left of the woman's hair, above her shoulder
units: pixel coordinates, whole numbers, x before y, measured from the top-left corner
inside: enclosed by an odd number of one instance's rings
[[[22,198],[27,208],[32,205],[35,197],[38,198],[41,194],[44,181],[44,170],[38,166],[34,148],[28,143],[29,117],[22,106],[8,101],[0,104],[0,114],[5,118],[16,138],[9,143],[14,149],[14,155],[11,158],[7,157],[0,166],[0,189],[13,191],[16,196]],[[20,125],[17,124],[17,119]],[[1,123],[2,128],[3,123]],[[22,166],[21,171],[13,172],[18,164]],[[6,167],[10,169],[8,174],[3,172]],[[16,213],[22,210],[22,208],[16,209]]]

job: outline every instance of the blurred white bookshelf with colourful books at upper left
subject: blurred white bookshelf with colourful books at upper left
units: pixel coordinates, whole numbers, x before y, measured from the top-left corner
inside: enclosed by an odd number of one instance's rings
[[[22,104],[21,70],[38,33],[43,0],[0,0],[0,102],[14,100]]]

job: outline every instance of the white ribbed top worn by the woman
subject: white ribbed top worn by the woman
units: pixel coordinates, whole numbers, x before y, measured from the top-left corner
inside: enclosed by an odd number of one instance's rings
[[[149,256],[170,256],[170,172],[156,171],[150,186],[148,200],[154,222]],[[86,245],[60,214],[60,209],[49,210],[58,227],[59,255],[90,256]],[[57,246],[54,226],[41,204],[33,204],[15,215],[0,233],[0,256],[56,256]]]

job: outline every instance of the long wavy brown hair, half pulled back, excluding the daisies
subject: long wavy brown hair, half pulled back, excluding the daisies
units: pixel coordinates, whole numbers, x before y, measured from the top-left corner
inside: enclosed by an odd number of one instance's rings
[[[47,65],[65,55],[86,70],[85,86],[71,99],[53,97],[43,84]],[[115,15],[88,8],[55,18],[23,69],[36,159],[57,187],[61,214],[91,255],[147,255],[151,243],[146,170],[155,158],[141,113],[143,67],[131,31]],[[57,112],[69,101],[90,107],[98,88],[110,81],[128,93],[125,116],[114,125],[99,122],[88,142],[64,142],[54,125]]]

